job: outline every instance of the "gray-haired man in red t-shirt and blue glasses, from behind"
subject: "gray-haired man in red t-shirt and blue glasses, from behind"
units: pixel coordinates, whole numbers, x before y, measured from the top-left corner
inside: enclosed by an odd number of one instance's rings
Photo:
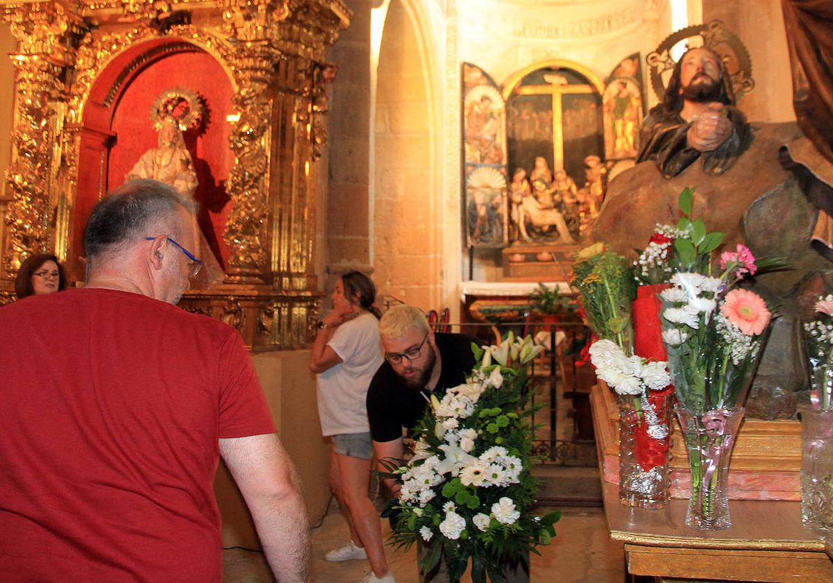
[[[152,180],[93,209],[83,289],[0,309],[0,580],[222,581],[222,456],[278,581],[308,524],[242,338],[174,304],[194,205]]]

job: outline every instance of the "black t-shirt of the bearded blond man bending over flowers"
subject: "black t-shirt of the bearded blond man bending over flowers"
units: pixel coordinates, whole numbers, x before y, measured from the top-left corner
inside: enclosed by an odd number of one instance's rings
[[[466,382],[474,367],[471,342],[480,344],[467,334],[435,333],[442,368],[434,394],[442,396],[446,389]],[[402,427],[411,429],[425,415],[428,391],[409,389],[387,361],[382,363],[367,390],[367,418],[373,441],[393,441],[402,437]]]

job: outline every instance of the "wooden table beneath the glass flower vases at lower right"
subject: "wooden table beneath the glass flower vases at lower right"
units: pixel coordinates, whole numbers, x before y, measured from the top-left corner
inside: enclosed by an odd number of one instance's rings
[[[831,541],[801,526],[801,502],[731,500],[727,531],[686,526],[687,501],[665,510],[629,508],[619,487],[602,482],[607,526],[625,543],[631,575],[718,581],[833,581]]]

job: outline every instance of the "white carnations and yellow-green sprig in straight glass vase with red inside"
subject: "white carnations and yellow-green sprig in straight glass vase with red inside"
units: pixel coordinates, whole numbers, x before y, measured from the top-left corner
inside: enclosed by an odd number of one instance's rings
[[[634,281],[625,258],[601,244],[579,252],[573,263],[571,285],[581,292],[587,321],[600,338],[590,348],[591,361],[619,401],[619,499],[656,509],[669,497],[671,399],[658,393],[667,393],[671,378],[665,361],[634,354]]]

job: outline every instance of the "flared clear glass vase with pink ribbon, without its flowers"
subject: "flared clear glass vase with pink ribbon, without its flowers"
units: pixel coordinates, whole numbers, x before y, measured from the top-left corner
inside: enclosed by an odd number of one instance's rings
[[[729,460],[744,408],[714,409],[700,414],[678,404],[675,410],[686,440],[691,470],[686,526],[701,531],[724,531],[731,526]]]

